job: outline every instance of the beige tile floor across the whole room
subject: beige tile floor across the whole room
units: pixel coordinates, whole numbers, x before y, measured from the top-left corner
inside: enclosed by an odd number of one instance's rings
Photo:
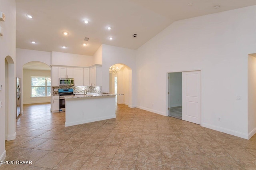
[[[1,170],[255,170],[256,135],[250,140],[126,105],[116,119],[64,127],[65,113],[49,104],[24,105],[17,138],[6,141]]]

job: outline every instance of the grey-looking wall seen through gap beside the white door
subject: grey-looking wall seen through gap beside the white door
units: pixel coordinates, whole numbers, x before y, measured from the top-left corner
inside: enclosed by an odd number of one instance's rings
[[[169,77],[169,106],[182,106],[182,72],[170,73]]]

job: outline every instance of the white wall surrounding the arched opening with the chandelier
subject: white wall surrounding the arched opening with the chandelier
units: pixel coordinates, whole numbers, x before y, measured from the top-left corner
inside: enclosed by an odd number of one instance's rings
[[[136,64],[135,50],[102,44],[102,92],[109,91],[109,67],[116,63],[127,65],[132,69],[132,90],[129,107],[136,105]]]

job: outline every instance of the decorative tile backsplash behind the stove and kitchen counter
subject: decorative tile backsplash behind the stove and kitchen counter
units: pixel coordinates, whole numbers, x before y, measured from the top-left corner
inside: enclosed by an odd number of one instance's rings
[[[86,89],[88,93],[98,93],[101,94],[101,86],[53,86],[52,95],[58,95],[58,91],[54,89],[73,89],[73,93],[84,93]]]

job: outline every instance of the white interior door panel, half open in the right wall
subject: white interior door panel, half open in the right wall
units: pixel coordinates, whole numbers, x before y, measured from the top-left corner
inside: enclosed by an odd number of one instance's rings
[[[182,72],[182,120],[201,123],[200,71]]]

